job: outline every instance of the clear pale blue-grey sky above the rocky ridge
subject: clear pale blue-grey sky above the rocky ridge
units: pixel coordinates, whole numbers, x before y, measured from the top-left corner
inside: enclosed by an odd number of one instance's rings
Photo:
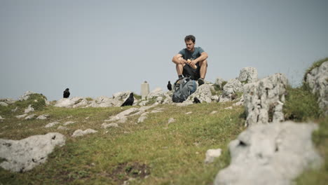
[[[328,57],[327,0],[0,0],[0,98],[59,100],[166,90],[184,36],[209,55],[206,81],[280,72],[292,85]]]

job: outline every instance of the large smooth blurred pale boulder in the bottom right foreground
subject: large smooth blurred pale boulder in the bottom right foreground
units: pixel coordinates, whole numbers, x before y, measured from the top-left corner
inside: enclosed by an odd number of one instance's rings
[[[231,164],[214,184],[289,184],[322,159],[312,144],[313,123],[254,125],[229,144]]]

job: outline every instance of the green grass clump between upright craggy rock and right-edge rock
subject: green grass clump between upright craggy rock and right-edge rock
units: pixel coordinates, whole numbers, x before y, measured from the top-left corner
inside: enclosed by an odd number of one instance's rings
[[[283,111],[285,119],[292,121],[308,121],[320,118],[322,115],[322,110],[317,104],[317,97],[301,87],[287,87]]]

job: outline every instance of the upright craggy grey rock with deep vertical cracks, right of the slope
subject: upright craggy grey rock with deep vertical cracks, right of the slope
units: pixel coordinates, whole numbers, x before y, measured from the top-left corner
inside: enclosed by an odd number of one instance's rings
[[[244,86],[246,125],[284,121],[282,105],[285,102],[287,78],[274,74]]]

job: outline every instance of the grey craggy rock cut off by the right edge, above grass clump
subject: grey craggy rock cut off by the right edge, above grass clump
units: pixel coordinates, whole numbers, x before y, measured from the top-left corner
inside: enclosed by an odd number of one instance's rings
[[[312,93],[318,95],[319,107],[328,115],[328,61],[306,74],[306,83]]]

